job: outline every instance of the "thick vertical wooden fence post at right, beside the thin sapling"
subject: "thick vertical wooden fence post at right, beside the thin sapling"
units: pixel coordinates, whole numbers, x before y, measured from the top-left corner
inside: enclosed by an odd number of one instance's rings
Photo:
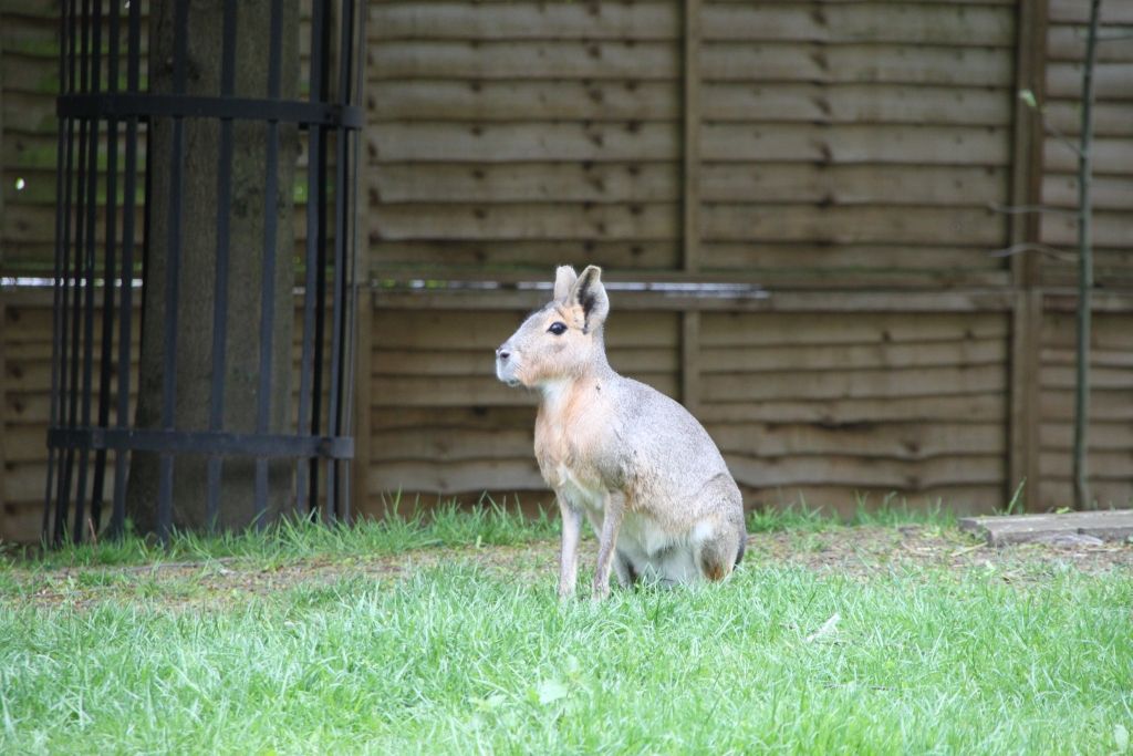
[[[1043,101],[1046,79],[1046,3],[1019,3],[1015,37],[1014,146],[1011,171],[1011,204],[1033,206],[1042,199],[1042,114],[1021,96],[1023,90]],[[1039,240],[1038,213],[1013,213],[1010,218],[1012,246]],[[1023,481],[1028,509],[1039,503],[1039,371],[1041,363],[1042,292],[1039,289],[1039,258],[1034,253],[1011,260],[1015,304],[1011,328],[1011,404],[1007,441],[1008,479],[1006,496]]]

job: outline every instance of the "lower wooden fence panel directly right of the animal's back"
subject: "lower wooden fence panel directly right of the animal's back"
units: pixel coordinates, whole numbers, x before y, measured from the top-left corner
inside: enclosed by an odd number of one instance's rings
[[[700,415],[750,504],[1002,502],[1006,314],[700,318]]]

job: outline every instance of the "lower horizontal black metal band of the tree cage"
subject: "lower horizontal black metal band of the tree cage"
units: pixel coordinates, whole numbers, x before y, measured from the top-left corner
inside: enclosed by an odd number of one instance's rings
[[[214,453],[222,457],[258,456],[330,457],[347,459],[353,453],[348,436],[308,436],[283,433],[212,433],[211,431],[143,431],[137,428],[52,428],[52,449],[128,449],[156,453]]]

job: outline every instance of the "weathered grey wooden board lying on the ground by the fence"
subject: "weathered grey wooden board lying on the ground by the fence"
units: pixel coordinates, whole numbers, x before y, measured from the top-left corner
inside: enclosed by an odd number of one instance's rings
[[[1011,517],[965,517],[960,528],[987,537],[988,544],[1048,541],[1090,543],[1090,538],[1125,541],[1133,537],[1133,510],[1118,509],[1066,515],[1019,515]],[[1072,538],[1070,536],[1085,536]]]

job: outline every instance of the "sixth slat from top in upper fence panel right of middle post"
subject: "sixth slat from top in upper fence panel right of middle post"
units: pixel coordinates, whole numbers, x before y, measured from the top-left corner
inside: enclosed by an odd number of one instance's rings
[[[989,250],[1006,240],[1006,220],[990,210],[707,205],[701,213],[707,240],[931,244],[948,238]]]

